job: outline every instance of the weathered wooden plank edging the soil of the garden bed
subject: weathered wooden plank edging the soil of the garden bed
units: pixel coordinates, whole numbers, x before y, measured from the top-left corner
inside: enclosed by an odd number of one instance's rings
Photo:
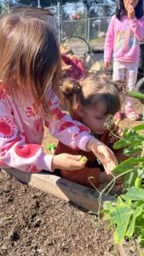
[[[79,207],[84,207],[87,210],[98,211],[98,193],[94,189],[89,189],[78,183],[72,183],[64,178],[47,174],[46,172],[20,172],[13,168],[4,171],[10,173],[21,182],[27,183],[45,193],[55,195],[62,200],[72,201]],[[107,195],[102,197],[102,201],[108,200],[114,201],[114,198]]]

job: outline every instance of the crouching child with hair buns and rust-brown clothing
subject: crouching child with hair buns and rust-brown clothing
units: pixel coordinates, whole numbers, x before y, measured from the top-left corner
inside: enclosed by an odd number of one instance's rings
[[[95,138],[111,148],[118,162],[125,160],[122,149],[115,150],[112,148],[113,143],[119,137],[118,127],[112,122],[112,117],[120,109],[120,99],[116,87],[106,79],[89,76],[80,82],[67,79],[62,84],[62,93],[62,102],[68,105],[72,118],[89,127],[91,134]],[[109,128],[107,128],[107,125],[109,125]],[[99,187],[101,183],[108,183],[112,180],[111,175],[101,172],[103,167],[95,159],[95,155],[92,152],[84,152],[81,149],[75,151],[59,142],[55,154],[61,153],[82,154],[88,159],[86,165],[81,170],[67,172],[66,168],[61,168],[61,177],[88,187],[91,187],[89,177],[94,177],[92,183],[96,187]],[[119,182],[121,183],[122,181],[119,180]]]

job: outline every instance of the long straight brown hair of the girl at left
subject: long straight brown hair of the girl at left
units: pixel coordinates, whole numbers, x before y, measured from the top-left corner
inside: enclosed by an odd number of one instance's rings
[[[0,23],[0,79],[12,96],[32,93],[49,113],[46,94],[58,94],[60,49],[53,29],[43,20],[8,15]],[[51,84],[52,83],[52,86]],[[30,90],[30,91],[29,91]]]

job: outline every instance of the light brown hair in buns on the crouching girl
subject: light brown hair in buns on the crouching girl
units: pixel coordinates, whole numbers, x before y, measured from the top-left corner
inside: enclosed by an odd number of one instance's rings
[[[115,83],[107,79],[99,79],[89,76],[80,82],[67,79],[62,84],[62,103],[68,103],[69,112],[73,115],[73,107],[76,102],[82,106],[96,107],[97,102],[105,102],[106,114],[114,115],[121,107],[118,90]]]

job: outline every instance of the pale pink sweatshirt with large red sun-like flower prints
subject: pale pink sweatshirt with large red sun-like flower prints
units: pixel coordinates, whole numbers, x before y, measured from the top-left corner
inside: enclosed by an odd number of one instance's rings
[[[85,149],[91,138],[89,129],[62,113],[59,99],[55,96],[49,102],[49,109],[55,120],[49,119],[43,108],[34,108],[32,97],[14,99],[0,86],[0,167],[14,167],[25,172],[53,172],[53,155],[45,154],[41,143],[43,127],[61,143],[71,148]]]

